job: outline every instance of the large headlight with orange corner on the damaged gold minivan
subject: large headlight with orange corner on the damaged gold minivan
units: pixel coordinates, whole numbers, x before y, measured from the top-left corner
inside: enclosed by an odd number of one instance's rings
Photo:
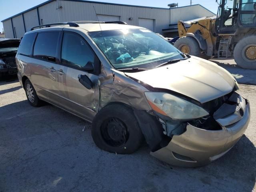
[[[209,113],[187,100],[162,92],[145,92],[152,110],[176,120],[204,117]]]

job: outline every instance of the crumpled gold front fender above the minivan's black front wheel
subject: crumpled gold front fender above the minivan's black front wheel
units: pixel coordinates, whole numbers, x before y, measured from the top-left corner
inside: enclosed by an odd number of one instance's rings
[[[148,90],[128,78],[123,72],[104,67],[101,70],[98,84],[100,109],[111,102],[120,102],[138,110],[151,110],[144,97],[144,92]]]

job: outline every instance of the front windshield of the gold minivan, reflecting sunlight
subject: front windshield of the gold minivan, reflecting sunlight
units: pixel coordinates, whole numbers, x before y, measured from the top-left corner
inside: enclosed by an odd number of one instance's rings
[[[117,69],[154,68],[166,60],[185,57],[172,44],[146,29],[108,30],[88,34]]]

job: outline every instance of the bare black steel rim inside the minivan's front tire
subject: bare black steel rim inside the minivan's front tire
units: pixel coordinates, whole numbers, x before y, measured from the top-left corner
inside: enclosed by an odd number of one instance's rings
[[[129,138],[129,131],[124,122],[118,118],[106,119],[100,128],[104,141],[112,147],[122,147]]]

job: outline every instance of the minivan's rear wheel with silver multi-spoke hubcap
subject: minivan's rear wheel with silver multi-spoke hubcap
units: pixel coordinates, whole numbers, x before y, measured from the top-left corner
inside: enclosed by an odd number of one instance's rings
[[[34,86],[29,79],[25,81],[24,89],[30,105],[32,105],[33,107],[39,107],[42,105],[42,100],[38,98],[36,90],[34,89]]]

